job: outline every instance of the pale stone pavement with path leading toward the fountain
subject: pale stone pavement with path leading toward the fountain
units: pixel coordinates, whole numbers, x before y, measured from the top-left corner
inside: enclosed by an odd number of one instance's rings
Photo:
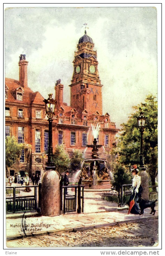
[[[72,193],[68,189],[68,193]],[[15,240],[23,237],[42,236],[64,231],[76,231],[97,227],[112,226],[119,223],[138,222],[141,219],[158,218],[158,204],[155,216],[151,209],[143,215],[128,215],[128,206],[119,208],[117,203],[102,200],[103,191],[84,191],[84,212],[66,213],[59,216],[42,216],[37,213],[15,213],[6,215],[6,238]]]

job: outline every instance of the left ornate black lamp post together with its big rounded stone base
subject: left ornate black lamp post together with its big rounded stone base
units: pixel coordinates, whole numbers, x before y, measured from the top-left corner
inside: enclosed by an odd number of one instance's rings
[[[44,99],[46,114],[49,122],[48,132],[48,161],[46,163],[46,171],[42,176],[42,204],[41,210],[44,216],[60,215],[60,180],[53,162],[53,147],[52,147],[52,121],[56,100],[52,99],[52,94],[49,94],[48,99]]]

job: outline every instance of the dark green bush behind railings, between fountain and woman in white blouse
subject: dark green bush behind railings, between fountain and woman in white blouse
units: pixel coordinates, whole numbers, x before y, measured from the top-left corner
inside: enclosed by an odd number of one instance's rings
[[[115,188],[121,187],[123,184],[130,184],[131,182],[131,174],[125,170],[120,164],[116,164],[114,172],[113,172],[113,181],[112,185]]]

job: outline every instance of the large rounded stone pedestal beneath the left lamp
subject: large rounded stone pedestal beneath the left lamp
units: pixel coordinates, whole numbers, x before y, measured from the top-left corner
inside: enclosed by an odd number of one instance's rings
[[[60,215],[60,180],[56,171],[46,170],[42,177],[42,215]]]

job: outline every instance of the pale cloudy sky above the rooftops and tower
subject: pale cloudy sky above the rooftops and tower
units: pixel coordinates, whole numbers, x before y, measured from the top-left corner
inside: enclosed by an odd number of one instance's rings
[[[74,51],[84,34],[95,43],[103,85],[103,114],[117,128],[132,106],[157,95],[157,10],[153,7],[16,7],[5,10],[5,76],[19,79],[26,54],[28,86],[47,98],[55,81],[70,105]]]

